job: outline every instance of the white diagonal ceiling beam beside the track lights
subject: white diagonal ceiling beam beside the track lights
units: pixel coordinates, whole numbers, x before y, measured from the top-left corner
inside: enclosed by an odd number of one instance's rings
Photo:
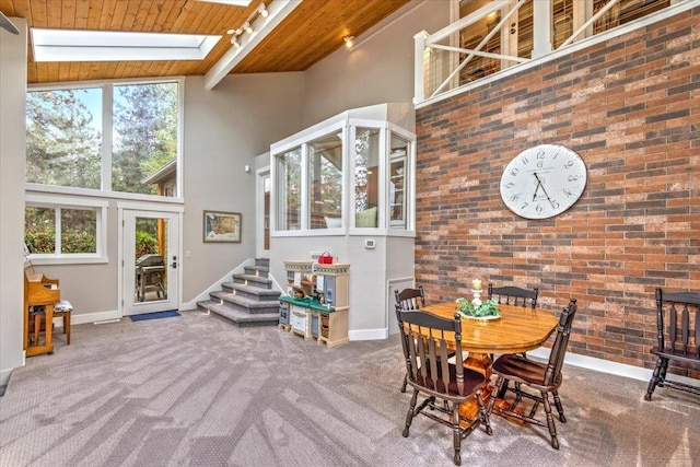
[[[219,82],[221,82],[245,56],[253,51],[301,2],[301,0],[272,0],[272,2],[267,5],[269,15],[267,17],[258,16],[252,24],[253,34],[244,34],[241,36],[247,36],[247,40],[243,42],[241,47],[231,46],[223,57],[205,74],[205,89],[211,91],[219,84]]]

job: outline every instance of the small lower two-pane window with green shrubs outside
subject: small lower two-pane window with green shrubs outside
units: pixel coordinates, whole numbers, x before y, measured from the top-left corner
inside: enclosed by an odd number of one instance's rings
[[[59,198],[57,202],[56,197],[27,196],[24,243],[32,258],[102,260],[107,202],[61,201]]]

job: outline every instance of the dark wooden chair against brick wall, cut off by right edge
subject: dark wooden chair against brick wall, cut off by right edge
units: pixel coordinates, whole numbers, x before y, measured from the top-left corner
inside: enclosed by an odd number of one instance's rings
[[[652,400],[656,386],[700,395],[700,385],[667,380],[668,363],[681,369],[700,366],[700,293],[664,293],[656,289],[656,367],[649,381],[644,400]]]

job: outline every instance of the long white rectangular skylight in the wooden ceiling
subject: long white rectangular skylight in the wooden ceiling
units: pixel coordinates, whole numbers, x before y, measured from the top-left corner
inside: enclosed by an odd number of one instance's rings
[[[34,61],[201,60],[221,36],[32,28]]]

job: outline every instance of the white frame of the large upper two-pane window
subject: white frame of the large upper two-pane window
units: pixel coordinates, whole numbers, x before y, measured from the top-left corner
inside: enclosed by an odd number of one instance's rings
[[[159,195],[144,195],[128,191],[114,191],[112,189],[112,152],[113,152],[113,129],[114,129],[114,91],[117,86],[124,85],[145,85],[177,83],[177,143],[176,143],[176,178],[175,190],[176,197],[164,197]],[[62,185],[46,185],[27,183],[26,189],[48,190],[54,192],[63,192],[69,195],[94,195],[108,196],[115,198],[137,199],[137,200],[154,200],[184,202],[184,131],[185,131],[185,77],[167,77],[167,78],[144,78],[144,79],[126,79],[113,81],[79,81],[70,83],[48,83],[48,84],[28,84],[26,92],[33,91],[61,91],[61,90],[83,90],[83,89],[102,89],[102,148],[101,153],[101,188],[79,188]],[[43,188],[47,187],[47,188]]]

